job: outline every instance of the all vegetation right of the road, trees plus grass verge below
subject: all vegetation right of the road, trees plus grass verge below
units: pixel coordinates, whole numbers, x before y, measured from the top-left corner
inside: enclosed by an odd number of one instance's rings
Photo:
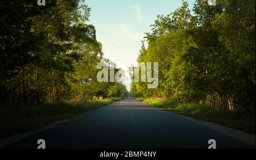
[[[159,63],[159,85],[133,82],[131,95],[255,134],[255,1],[197,0],[189,8],[183,1],[151,25],[137,61]]]

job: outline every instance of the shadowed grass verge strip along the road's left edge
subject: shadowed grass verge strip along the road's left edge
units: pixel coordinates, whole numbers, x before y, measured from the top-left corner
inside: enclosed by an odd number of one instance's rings
[[[88,102],[61,102],[51,105],[23,106],[13,110],[0,110],[0,139],[18,133],[35,131],[35,129],[51,123],[73,118],[121,99],[106,98],[105,100]]]

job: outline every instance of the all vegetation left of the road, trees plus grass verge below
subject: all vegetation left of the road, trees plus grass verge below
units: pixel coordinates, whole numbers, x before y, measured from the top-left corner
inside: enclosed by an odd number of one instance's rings
[[[97,64],[110,60],[84,0],[1,1],[0,10],[0,138],[127,95],[122,83],[97,81]]]

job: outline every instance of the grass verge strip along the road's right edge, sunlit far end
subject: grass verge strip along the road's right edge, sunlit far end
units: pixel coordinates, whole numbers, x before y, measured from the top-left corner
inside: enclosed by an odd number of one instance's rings
[[[175,103],[171,100],[158,100],[156,98],[138,98],[149,105],[177,114],[191,116],[192,118],[213,122],[222,126],[234,128],[255,135],[255,114],[242,111],[229,111],[225,109],[210,108],[199,104]]]

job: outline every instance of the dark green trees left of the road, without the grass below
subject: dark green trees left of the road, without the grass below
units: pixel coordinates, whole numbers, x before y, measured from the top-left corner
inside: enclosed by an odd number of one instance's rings
[[[89,12],[84,0],[0,2],[1,108],[88,100],[113,85],[126,93],[122,84],[97,83],[103,54]],[[85,86],[80,78],[93,80]]]

